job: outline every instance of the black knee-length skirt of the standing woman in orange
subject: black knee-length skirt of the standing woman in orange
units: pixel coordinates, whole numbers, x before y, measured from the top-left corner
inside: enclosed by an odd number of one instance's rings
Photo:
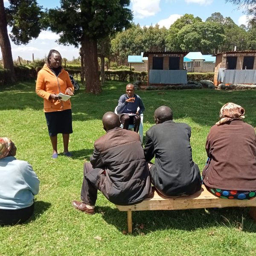
[[[50,137],[54,137],[57,134],[73,133],[71,109],[64,111],[45,112],[45,118]]]

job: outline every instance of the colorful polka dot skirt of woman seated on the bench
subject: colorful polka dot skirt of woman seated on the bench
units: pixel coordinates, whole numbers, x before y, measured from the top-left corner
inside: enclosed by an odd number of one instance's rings
[[[239,199],[239,200],[249,200],[256,197],[255,191],[239,191],[239,190],[226,190],[226,189],[213,189],[209,188],[212,194],[218,196],[219,198],[226,199]]]

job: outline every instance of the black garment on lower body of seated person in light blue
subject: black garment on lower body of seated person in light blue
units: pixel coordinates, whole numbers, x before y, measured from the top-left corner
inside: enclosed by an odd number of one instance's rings
[[[15,210],[0,209],[0,226],[15,225],[28,220],[34,212],[34,204]]]

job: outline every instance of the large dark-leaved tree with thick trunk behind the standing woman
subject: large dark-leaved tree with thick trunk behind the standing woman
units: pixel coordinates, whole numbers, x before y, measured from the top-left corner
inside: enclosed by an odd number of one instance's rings
[[[49,23],[59,33],[59,43],[72,44],[84,54],[86,91],[98,94],[97,41],[130,26],[130,0],[60,0],[61,7],[49,9]]]

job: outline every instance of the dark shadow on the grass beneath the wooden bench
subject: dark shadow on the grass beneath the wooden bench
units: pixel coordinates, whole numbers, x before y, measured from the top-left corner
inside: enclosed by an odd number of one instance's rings
[[[97,207],[104,220],[120,232],[127,231],[127,212],[111,207]],[[132,212],[133,235],[148,234],[158,230],[186,230],[228,227],[249,233],[256,232],[256,224],[249,217],[248,208],[188,209],[171,211]],[[113,218],[113,216],[115,216]],[[141,225],[143,224],[143,225]],[[141,228],[143,227],[143,228]]]

